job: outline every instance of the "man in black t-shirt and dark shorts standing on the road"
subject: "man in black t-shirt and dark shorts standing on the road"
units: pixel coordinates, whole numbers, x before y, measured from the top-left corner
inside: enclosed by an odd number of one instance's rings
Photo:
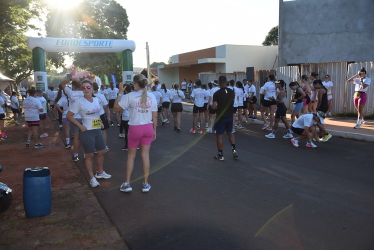
[[[218,77],[219,90],[213,94],[213,104],[211,108],[216,110],[214,121],[214,130],[217,135],[218,154],[215,159],[223,160],[223,141],[222,134],[226,131],[228,140],[231,143],[232,157],[236,158],[237,152],[235,148],[235,138],[232,134],[232,113],[235,93],[232,89],[226,87],[227,78],[224,75]]]

